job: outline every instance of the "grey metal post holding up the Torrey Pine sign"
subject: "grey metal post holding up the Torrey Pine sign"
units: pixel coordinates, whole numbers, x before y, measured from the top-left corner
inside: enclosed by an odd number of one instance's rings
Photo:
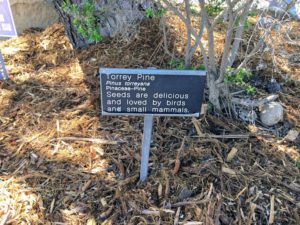
[[[144,116],[144,134],[142,145],[140,181],[145,181],[148,176],[148,164],[150,155],[150,144],[152,137],[153,115]]]

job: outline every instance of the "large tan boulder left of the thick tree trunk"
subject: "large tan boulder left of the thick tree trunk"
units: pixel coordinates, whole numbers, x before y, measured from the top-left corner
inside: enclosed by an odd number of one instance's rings
[[[46,28],[58,21],[51,0],[10,0],[18,34],[31,27]]]

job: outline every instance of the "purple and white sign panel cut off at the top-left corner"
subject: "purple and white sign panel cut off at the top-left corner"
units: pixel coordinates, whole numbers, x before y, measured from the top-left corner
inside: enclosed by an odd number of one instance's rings
[[[15,37],[17,31],[8,0],[0,0],[0,37]]]

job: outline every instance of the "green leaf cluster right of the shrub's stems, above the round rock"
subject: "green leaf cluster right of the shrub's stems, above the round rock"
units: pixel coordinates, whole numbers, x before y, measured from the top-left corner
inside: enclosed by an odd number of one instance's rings
[[[251,76],[252,74],[245,68],[241,68],[237,72],[235,72],[234,68],[227,68],[224,81],[230,86],[239,86],[243,88],[247,94],[253,95],[256,93],[256,89],[245,82],[245,80]]]

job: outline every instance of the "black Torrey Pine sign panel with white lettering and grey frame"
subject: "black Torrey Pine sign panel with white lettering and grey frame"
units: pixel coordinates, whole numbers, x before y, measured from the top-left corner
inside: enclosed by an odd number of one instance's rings
[[[198,116],[206,72],[100,68],[103,115]]]

